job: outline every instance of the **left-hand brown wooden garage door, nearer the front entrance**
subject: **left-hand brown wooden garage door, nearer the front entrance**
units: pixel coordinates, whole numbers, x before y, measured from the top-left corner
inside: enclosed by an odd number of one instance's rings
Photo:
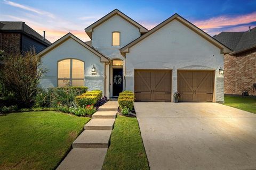
[[[170,70],[135,70],[136,101],[171,101]]]

